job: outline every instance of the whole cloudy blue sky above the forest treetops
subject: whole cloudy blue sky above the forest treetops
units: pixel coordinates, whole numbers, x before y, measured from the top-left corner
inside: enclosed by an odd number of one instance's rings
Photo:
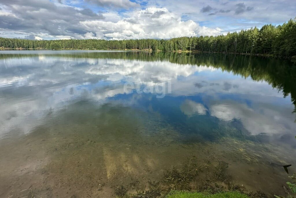
[[[1,0],[0,37],[169,39],[295,18],[290,0]]]

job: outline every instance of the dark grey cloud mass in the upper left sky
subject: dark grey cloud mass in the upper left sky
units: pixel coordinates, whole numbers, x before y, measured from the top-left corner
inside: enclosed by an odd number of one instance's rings
[[[0,28],[6,37],[12,31],[24,37],[33,34],[43,38],[79,39],[86,33],[80,21],[104,19],[101,13],[90,9],[48,0],[2,0],[0,6]]]

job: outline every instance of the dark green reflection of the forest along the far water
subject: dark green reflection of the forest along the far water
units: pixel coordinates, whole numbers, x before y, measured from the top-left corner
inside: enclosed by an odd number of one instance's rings
[[[54,53],[54,52],[53,52]],[[34,53],[34,54],[0,54],[0,59],[22,57],[68,57],[87,59],[124,59],[141,61],[169,61],[220,68],[242,77],[251,77],[255,81],[266,81],[273,88],[283,92],[284,97],[291,94],[296,111],[296,65],[290,61],[254,56],[234,56],[205,53],[169,53],[169,52],[75,52],[75,53]],[[294,111],[294,112],[295,112]]]

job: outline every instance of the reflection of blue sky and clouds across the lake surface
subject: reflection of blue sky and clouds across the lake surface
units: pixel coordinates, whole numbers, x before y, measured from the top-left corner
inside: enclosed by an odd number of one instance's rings
[[[97,108],[120,103],[156,112],[176,126],[184,124],[185,130],[188,127],[193,133],[231,126],[250,135],[264,133],[276,141],[294,144],[290,141],[296,128],[291,97],[283,98],[268,82],[223,72],[212,65],[48,53],[0,59],[2,135],[29,133],[46,122],[49,111],[58,114],[67,105],[89,100]],[[126,82],[152,89],[171,82],[172,88],[164,98],[156,98],[156,93],[126,92]],[[207,126],[196,124],[201,121]]]

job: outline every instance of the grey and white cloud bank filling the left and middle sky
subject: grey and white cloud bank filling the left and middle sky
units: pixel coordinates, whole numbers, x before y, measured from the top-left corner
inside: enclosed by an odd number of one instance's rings
[[[28,39],[169,39],[221,34],[219,28],[200,26],[166,8],[148,7],[119,13],[79,8],[49,0],[0,2],[1,36]],[[121,9],[136,8],[129,0],[88,0]],[[17,35],[16,35],[17,34]]]

